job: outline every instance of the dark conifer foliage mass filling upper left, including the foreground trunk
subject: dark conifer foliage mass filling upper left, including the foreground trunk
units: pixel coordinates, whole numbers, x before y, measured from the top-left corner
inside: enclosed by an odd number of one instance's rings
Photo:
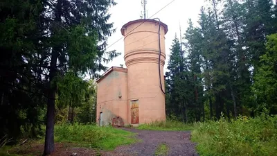
[[[115,31],[108,22],[114,5],[112,0],[1,1],[0,137],[35,133],[46,113],[44,154],[53,151],[55,98],[80,105],[87,89],[82,76],[98,77],[107,69],[102,63],[119,55],[105,51]]]

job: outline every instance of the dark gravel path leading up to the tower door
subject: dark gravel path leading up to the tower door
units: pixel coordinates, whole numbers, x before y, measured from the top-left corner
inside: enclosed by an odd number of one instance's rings
[[[104,155],[151,156],[154,155],[159,144],[166,144],[169,146],[170,150],[168,151],[168,155],[197,155],[195,151],[195,144],[190,141],[190,132],[188,131],[154,131],[128,128],[125,128],[124,130],[137,133],[138,135],[136,135],[136,137],[141,139],[141,141],[129,146],[120,146],[116,148],[116,150],[105,153]]]

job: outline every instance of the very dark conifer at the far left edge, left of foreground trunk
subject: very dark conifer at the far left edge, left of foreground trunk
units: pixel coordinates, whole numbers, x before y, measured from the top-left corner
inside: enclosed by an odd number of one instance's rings
[[[36,135],[43,123],[46,95],[32,71],[41,13],[42,4],[36,0],[4,0],[0,5],[0,137],[15,141],[22,129]]]

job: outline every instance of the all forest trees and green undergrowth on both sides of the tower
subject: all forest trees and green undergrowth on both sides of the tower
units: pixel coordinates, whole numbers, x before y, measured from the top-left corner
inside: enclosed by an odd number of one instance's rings
[[[139,129],[193,130],[200,155],[274,155],[276,1],[206,2],[197,23],[188,20],[168,51],[167,121]],[[115,5],[0,2],[0,155],[29,139],[43,144],[43,155],[53,153],[55,142],[104,150],[134,143],[129,132],[95,124],[96,78],[120,55],[106,51]]]

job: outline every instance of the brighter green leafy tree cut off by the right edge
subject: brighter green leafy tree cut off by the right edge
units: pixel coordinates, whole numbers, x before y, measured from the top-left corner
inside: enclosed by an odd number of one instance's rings
[[[277,113],[277,34],[267,37],[267,51],[260,57],[261,66],[254,76],[253,98],[258,103],[257,111],[264,107],[271,114]]]

